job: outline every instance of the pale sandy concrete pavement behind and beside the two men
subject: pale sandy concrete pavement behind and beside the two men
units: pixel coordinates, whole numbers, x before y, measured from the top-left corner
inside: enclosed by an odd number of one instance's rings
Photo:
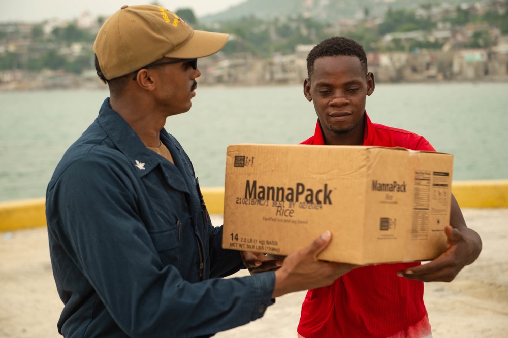
[[[467,225],[482,237],[483,251],[453,282],[425,284],[433,336],[508,336],[508,208],[463,209],[463,213]],[[213,215],[212,221],[220,225],[222,216]],[[60,336],[56,322],[62,304],[45,227],[0,232],[0,286],[1,337]],[[279,297],[263,318],[216,337],[296,337],[304,297],[305,292]]]

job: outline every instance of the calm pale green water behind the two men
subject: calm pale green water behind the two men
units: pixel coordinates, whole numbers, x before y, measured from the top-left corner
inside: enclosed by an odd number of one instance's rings
[[[377,84],[367,98],[375,123],[425,136],[452,153],[454,180],[508,178],[508,84]],[[97,116],[109,92],[0,93],[0,200],[43,197],[63,152]],[[198,88],[193,108],[168,118],[202,186],[223,186],[234,143],[295,144],[314,132],[302,86]]]

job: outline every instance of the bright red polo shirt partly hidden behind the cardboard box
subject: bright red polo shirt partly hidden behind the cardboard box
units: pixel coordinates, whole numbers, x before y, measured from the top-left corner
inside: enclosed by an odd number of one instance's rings
[[[324,145],[319,123],[302,144]],[[435,151],[423,137],[372,123],[365,113],[363,145]],[[397,276],[420,265],[396,263],[354,269],[332,285],[309,290],[302,305],[298,333],[305,338],[386,338],[419,322],[426,314],[423,282]]]

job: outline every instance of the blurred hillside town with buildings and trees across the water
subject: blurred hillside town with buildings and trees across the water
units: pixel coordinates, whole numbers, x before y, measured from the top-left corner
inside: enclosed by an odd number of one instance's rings
[[[369,71],[374,72],[377,82],[508,81],[506,9],[507,1],[464,4],[455,8],[443,4],[421,7],[411,12],[412,19],[432,22],[431,28],[410,30],[406,23],[405,29],[379,34],[377,41],[364,43]],[[246,45],[249,37],[242,36],[235,28],[229,30],[217,24],[219,31],[230,33],[227,47],[234,48],[225,48],[224,52],[199,60],[203,74],[200,84],[301,84],[307,77],[307,53],[319,40],[335,35],[355,39],[369,31],[380,32],[382,25],[386,26],[391,19],[391,13],[385,17],[370,17],[365,11],[363,16],[318,28],[305,25],[312,22],[305,13],[298,24],[291,18],[271,23],[257,21],[257,29],[266,31],[268,43],[273,45],[283,41],[281,27],[297,31],[302,42],[295,43],[290,51],[286,48],[256,52],[240,48]],[[444,20],[464,14],[475,18],[494,15],[501,18],[501,25],[487,20],[471,20],[464,24]],[[393,18],[395,14],[391,15]],[[72,23],[61,20],[0,23],[0,91],[104,88],[94,70],[92,52],[93,38],[103,20],[82,13]],[[199,25],[195,27],[200,28]]]

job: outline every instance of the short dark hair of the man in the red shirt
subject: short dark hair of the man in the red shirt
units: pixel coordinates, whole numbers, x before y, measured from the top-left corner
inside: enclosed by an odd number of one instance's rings
[[[327,56],[358,57],[362,68],[365,69],[365,74],[367,74],[367,55],[362,45],[348,38],[332,37],[315,45],[307,56],[307,72],[309,78],[314,71],[314,62],[319,58]]]

